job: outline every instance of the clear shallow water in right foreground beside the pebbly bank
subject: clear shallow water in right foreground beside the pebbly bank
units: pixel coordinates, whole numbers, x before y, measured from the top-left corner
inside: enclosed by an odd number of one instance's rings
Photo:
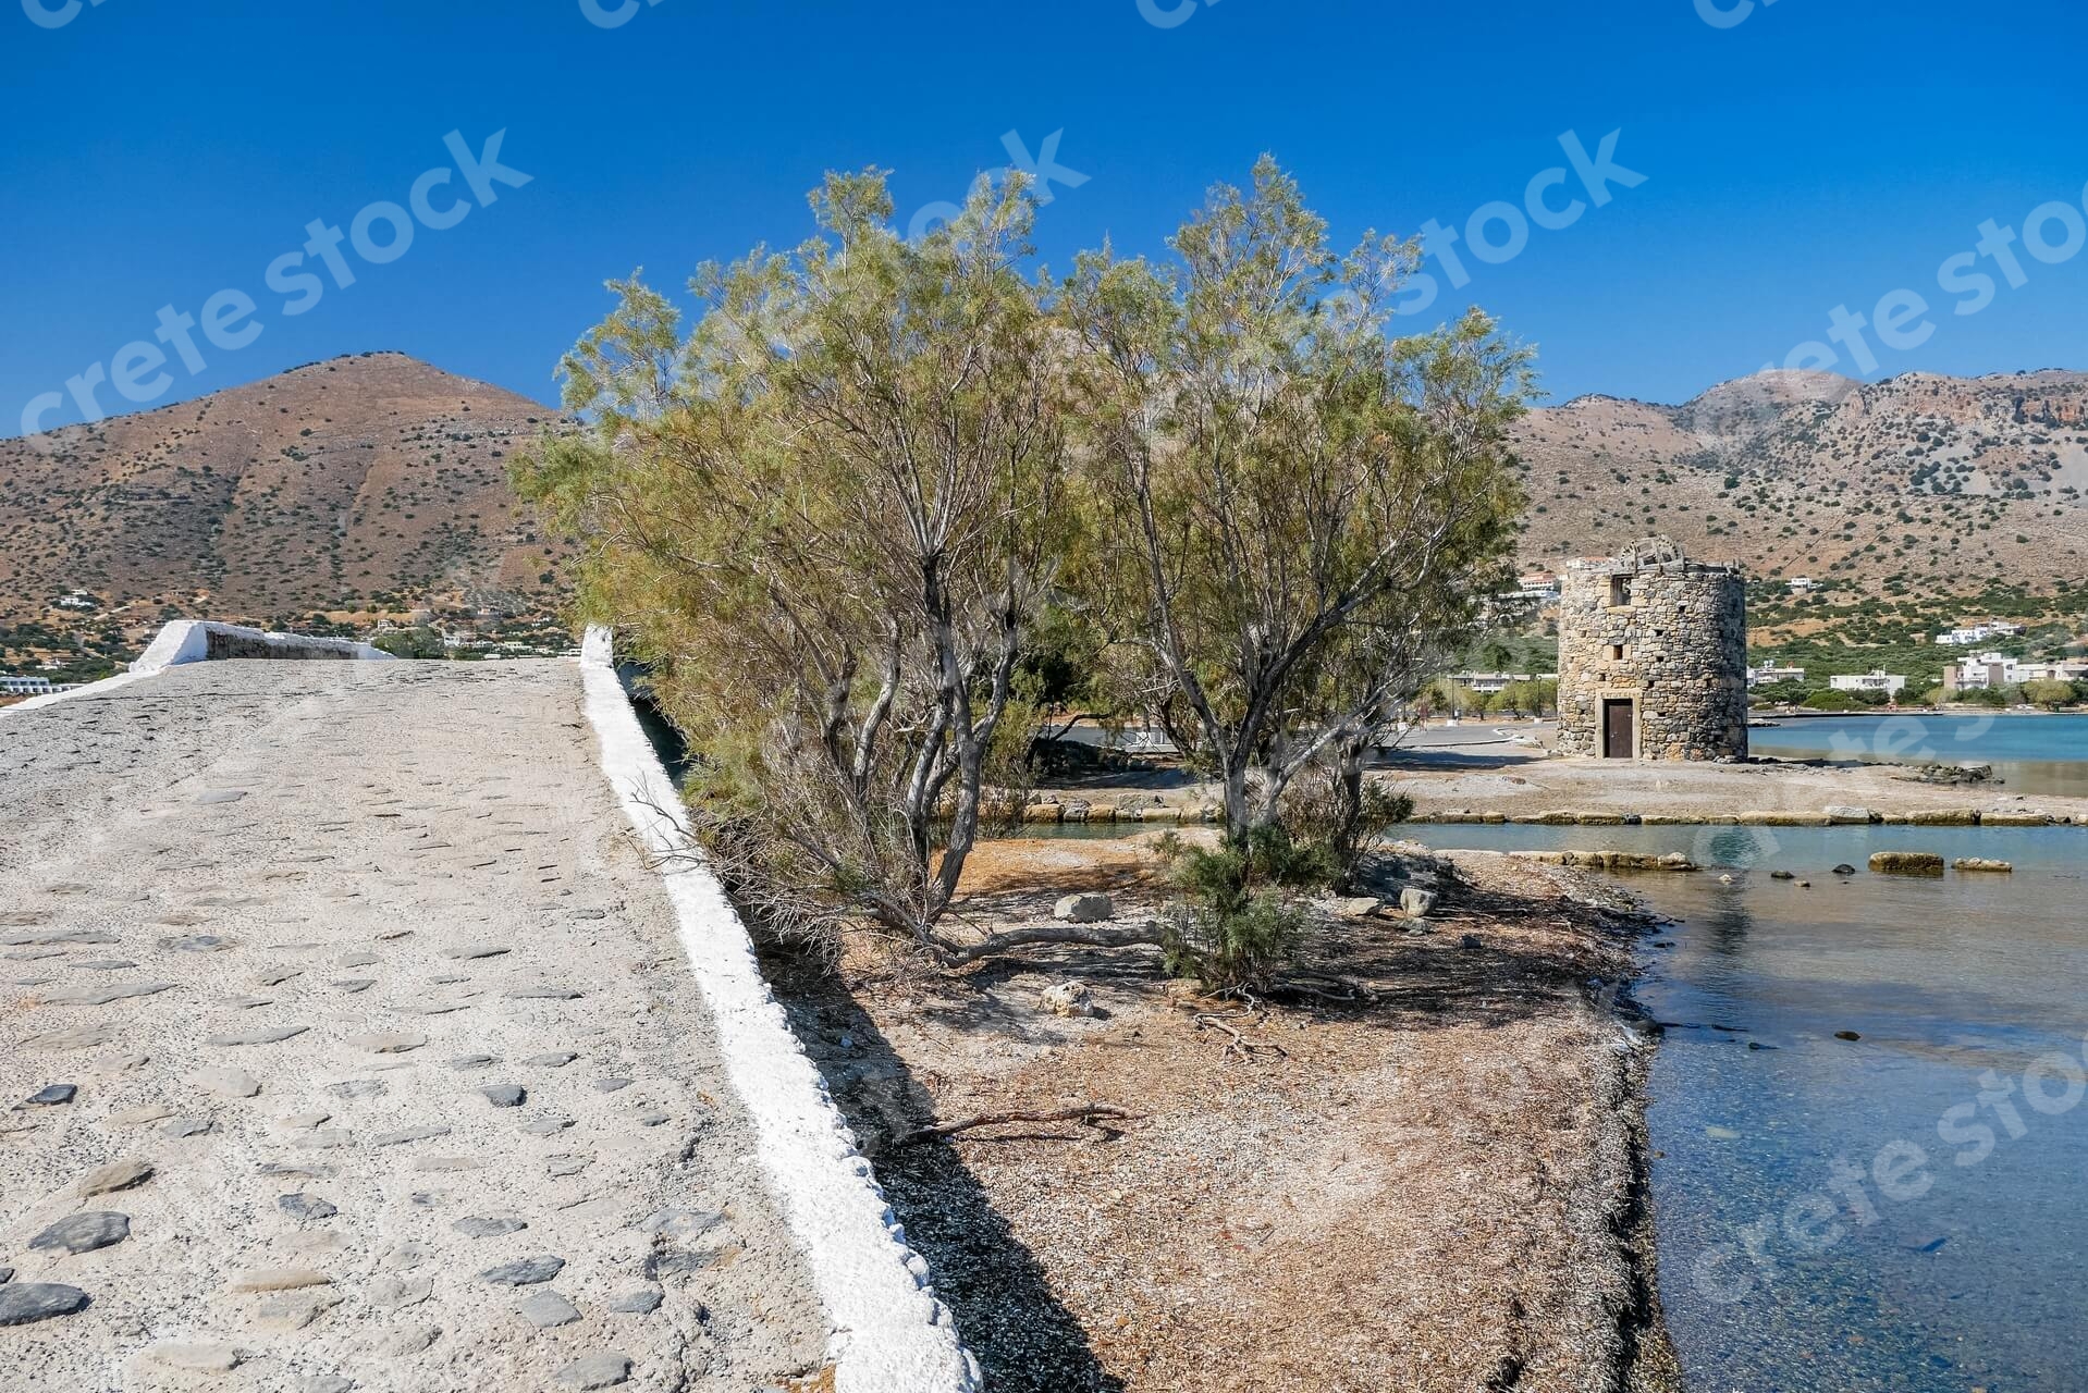
[[[2088,1387],[2088,829],[1411,831],[1439,848],[1683,850],[1735,877],[1629,879],[1677,919],[1639,998],[1668,1023],[1647,1117],[1660,1291],[1691,1389]],[[1831,873],[1873,850],[2017,869]]]

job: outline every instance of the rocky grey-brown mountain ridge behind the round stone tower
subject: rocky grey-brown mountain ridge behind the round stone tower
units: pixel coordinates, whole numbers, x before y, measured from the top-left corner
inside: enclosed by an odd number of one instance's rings
[[[1664,533],[1760,579],[1885,595],[2053,591],[2088,576],[2088,374],[1766,372],[1679,407],[1533,411],[1524,560]]]

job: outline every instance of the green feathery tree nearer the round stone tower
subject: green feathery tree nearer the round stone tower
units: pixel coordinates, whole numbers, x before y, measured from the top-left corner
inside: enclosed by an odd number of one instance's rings
[[[1096,604],[1180,698],[1247,846],[1318,760],[1359,794],[1389,704],[1505,576],[1531,353],[1478,311],[1393,338],[1414,244],[1338,255],[1270,159],[1171,246],[1082,257],[1063,294],[1082,468],[1117,518]]]

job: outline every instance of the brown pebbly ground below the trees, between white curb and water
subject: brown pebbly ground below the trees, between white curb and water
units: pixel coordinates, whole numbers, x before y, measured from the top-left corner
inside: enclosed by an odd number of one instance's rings
[[[979,927],[1159,890],[1140,842],[996,842]],[[1330,923],[1361,1000],[1184,998],[1148,950],[965,977],[858,948],[785,986],[996,1393],[1668,1389],[1616,892],[1478,854],[1426,934]],[[1476,942],[1468,942],[1474,936]],[[1046,1011],[1065,982],[1096,1015]],[[1201,1021],[1199,1015],[1211,1019]],[[1240,1032],[1228,1048],[1215,1025]],[[1105,1126],[929,1122],[1113,1103]]]

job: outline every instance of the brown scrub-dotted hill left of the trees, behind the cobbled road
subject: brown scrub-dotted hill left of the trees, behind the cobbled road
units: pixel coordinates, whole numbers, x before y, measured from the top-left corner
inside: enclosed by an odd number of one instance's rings
[[[0,620],[157,610],[255,620],[453,601],[555,604],[564,547],[507,487],[555,411],[363,353],[0,441]],[[56,608],[54,608],[56,606]]]

